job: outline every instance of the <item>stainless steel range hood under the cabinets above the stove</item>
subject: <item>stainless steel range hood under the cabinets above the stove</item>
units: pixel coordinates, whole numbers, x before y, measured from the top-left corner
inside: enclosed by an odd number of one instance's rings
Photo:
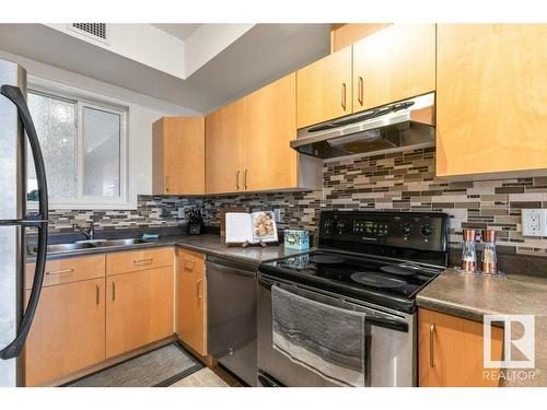
[[[291,148],[333,159],[433,145],[434,93],[302,128]]]

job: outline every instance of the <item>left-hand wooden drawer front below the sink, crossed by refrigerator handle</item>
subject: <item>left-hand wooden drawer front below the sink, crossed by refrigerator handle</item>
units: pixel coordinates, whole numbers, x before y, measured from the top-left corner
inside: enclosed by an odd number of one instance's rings
[[[35,263],[26,263],[25,288],[32,289]],[[48,260],[44,276],[44,286],[78,282],[105,276],[105,256],[86,256]]]

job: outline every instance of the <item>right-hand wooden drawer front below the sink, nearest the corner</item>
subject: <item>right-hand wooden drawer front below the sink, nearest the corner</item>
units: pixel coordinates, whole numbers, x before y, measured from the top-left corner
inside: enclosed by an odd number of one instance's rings
[[[106,274],[119,274],[173,265],[173,249],[143,249],[106,255]]]

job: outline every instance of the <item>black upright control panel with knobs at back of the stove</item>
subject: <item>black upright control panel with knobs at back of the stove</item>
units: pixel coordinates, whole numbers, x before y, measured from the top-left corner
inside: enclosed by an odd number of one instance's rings
[[[449,216],[394,211],[323,211],[319,243],[362,243],[445,251]]]

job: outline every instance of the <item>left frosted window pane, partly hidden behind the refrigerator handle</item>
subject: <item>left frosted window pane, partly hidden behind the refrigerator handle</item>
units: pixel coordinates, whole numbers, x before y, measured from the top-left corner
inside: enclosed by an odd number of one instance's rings
[[[74,102],[28,93],[33,117],[46,165],[49,197],[77,197],[77,105]],[[37,199],[34,161],[28,147],[27,197]]]

